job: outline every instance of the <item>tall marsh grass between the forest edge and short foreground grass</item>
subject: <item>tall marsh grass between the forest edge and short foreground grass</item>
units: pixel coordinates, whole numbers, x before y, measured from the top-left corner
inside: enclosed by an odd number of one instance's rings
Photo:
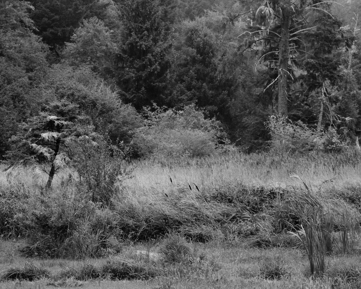
[[[327,232],[337,230],[343,253],[355,247],[350,237],[360,221],[357,152],[143,160],[132,168],[134,177],[109,195],[108,206],[78,190],[76,173],[72,180],[69,172],[59,174],[53,189],[44,191],[46,177],[35,167],[2,172],[0,234],[27,236],[28,256],[77,259],[116,253],[125,240],[170,234],[197,242],[284,246],[293,242],[285,240],[286,232],[303,228],[313,272],[325,271],[322,258],[329,249],[322,248],[334,245]],[[340,193],[344,188],[347,194]],[[332,215],[320,219],[313,213],[318,208]],[[353,225],[345,227],[345,220]]]

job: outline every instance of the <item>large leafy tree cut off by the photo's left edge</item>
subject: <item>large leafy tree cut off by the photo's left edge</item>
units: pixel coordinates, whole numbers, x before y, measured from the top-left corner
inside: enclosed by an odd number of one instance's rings
[[[0,3],[0,155],[9,149],[19,123],[36,114],[47,98],[40,84],[48,48],[31,32],[31,9],[22,1]]]

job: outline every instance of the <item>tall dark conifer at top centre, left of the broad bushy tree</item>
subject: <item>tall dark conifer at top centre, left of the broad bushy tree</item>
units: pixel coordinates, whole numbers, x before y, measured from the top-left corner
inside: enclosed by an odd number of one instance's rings
[[[137,109],[162,105],[169,40],[169,8],[161,0],[123,0],[119,4],[123,41],[117,56],[118,85]]]

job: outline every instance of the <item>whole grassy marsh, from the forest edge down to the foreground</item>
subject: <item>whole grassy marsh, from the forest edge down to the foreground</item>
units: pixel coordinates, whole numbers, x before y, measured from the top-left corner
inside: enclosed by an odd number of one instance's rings
[[[356,151],[130,167],[104,206],[3,166],[0,288],[361,288]]]

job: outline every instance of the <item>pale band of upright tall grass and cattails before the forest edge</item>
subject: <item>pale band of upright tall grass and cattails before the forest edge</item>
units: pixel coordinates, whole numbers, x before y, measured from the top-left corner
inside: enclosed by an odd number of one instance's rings
[[[297,175],[313,187],[325,181],[332,186],[360,184],[360,156],[357,151],[279,155],[229,154],[202,159],[153,159],[134,162],[134,177],[127,180],[129,190],[166,191],[169,187],[197,185],[199,188],[238,181],[257,186],[300,186]],[[173,183],[170,183],[170,179]]]

